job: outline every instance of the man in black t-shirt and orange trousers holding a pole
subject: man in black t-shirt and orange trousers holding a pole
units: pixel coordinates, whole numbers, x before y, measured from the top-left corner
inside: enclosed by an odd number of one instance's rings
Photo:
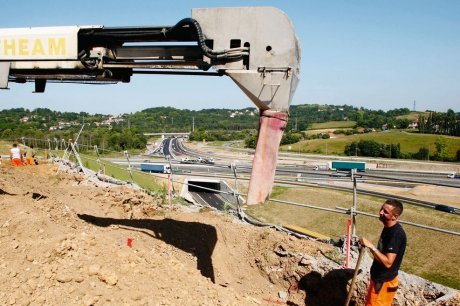
[[[406,250],[406,233],[398,218],[403,212],[401,202],[388,199],[379,212],[383,230],[377,246],[364,237],[359,242],[371,250],[374,261],[371,266],[371,280],[366,297],[366,306],[391,306],[398,289],[398,271]]]

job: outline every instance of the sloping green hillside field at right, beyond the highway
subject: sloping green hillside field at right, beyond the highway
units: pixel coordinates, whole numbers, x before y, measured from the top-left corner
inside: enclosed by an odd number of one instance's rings
[[[333,154],[343,155],[345,146],[353,141],[374,140],[384,144],[400,144],[401,152],[416,153],[422,147],[430,150],[430,154],[436,153],[435,142],[439,138],[446,141],[448,155],[455,157],[457,150],[460,150],[460,137],[440,136],[432,134],[415,134],[401,131],[373,132],[367,134],[355,134],[350,136],[340,136],[330,139],[312,139],[291,144],[291,151],[302,153]],[[282,151],[288,151],[288,146],[281,146]]]

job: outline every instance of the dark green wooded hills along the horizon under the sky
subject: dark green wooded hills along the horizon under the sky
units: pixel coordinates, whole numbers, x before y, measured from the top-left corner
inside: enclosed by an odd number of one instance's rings
[[[307,137],[302,131],[316,122],[351,120],[356,121],[356,127],[366,129],[380,129],[384,125],[392,128],[407,128],[411,120],[398,116],[409,113],[410,110],[407,108],[385,112],[350,105],[292,105],[282,144],[291,144],[311,137]],[[447,113],[420,114],[419,130],[421,133],[459,136],[459,116],[459,113],[452,110],[448,110]],[[110,115],[87,112],[58,112],[47,108],[37,108],[32,111],[24,108],[2,110],[0,111],[0,138],[68,139],[74,138],[81,125],[85,124],[81,136],[84,143],[110,150],[141,148],[147,141],[143,134],[153,132],[191,132],[191,139],[199,141],[244,139],[248,147],[255,147],[259,111],[254,107],[199,111],[155,107],[123,114],[119,122],[100,125],[109,117]],[[51,130],[62,122],[69,125]],[[356,131],[356,128],[353,131]],[[345,133],[354,133],[353,131],[347,130]],[[326,135],[320,137],[324,136]]]

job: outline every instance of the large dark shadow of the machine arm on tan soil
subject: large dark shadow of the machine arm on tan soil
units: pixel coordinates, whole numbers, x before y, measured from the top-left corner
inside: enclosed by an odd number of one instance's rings
[[[211,279],[215,283],[214,268],[212,266],[212,252],[217,243],[217,232],[214,226],[198,223],[184,222],[172,219],[114,219],[102,218],[86,214],[78,214],[78,217],[96,226],[107,227],[120,225],[140,230],[153,238],[175,246],[197,258],[197,268],[201,275]]]

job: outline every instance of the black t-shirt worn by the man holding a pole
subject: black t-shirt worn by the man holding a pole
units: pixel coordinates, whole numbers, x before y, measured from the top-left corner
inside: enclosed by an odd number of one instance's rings
[[[389,269],[374,259],[371,267],[371,278],[374,281],[386,282],[398,275],[404,251],[406,250],[406,242],[406,233],[399,223],[396,223],[392,227],[383,228],[377,249],[384,254],[395,253],[397,255],[393,265]]]

